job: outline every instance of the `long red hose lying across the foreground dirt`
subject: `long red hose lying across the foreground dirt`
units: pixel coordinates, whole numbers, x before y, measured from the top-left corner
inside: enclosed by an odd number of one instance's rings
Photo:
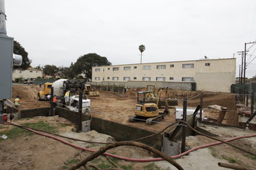
[[[11,123],[15,126],[18,126],[18,127],[21,127],[19,124],[15,124],[15,123]],[[73,146],[74,148],[79,148],[79,149],[82,149],[82,150],[85,150],[85,151],[91,151],[91,152],[95,152],[95,150],[92,150],[92,149],[89,149],[89,148],[82,148],[78,145],[73,145],[67,141],[64,141],[60,138],[56,138],[54,136],[51,136],[49,134],[43,134],[43,133],[40,133],[39,131],[34,131],[33,129],[30,129],[30,128],[26,128],[26,130],[28,131],[33,131],[35,134],[40,134],[40,135],[43,135],[43,136],[46,136],[48,138],[54,138],[55,140],[57,141],[61,141],[62,143],[64,144],[67,144],[67,145],[71,145]],[[251,135],[247,135],[247,136],[241,136],[241,137],[237,137],[237,138],[231,138],[231,139],[228,139],[226,141],[234,141],[234,140],[237,140],[237,139],[240,139],[240,138],[251,138],[251,137],[256,137],[256,134],[251,134]],[[215,142],[215,143],[212,143],[212,144],[207,144],[207,145],[201,145],[201,146],[198,146],[198,147],[195,147],[195,148],[192,148],[190,149],[189,151],[185,151],[183,152],[182,154],[179,154],[179,155],[175,155],[175,156],[171,156],[171,158],[180,158],[184,155],[187,155],[189,154],[190,152],[192,151],[195,151],[199,148],[206,148],[206,147],[209,147],[209,146],[213,146],[213,145],[220,145],[222,144],[223,142],[221,141],[218,141],[218,142]],[[125,161],[130,161],[130,162],[156,162],[156,161],[162,161],[163,159],[162,158],[148,158],[148,159],[138,159],[138,158],[126,158],[126,157],[123,157],[123,156],[119,156],[119,155],[112,155],[112,154],[109,154],[109,153],[104,153],[104,155],[108,155],[108,156],[111,156],[113,158],[119,158],[119,159],[123,159]]]

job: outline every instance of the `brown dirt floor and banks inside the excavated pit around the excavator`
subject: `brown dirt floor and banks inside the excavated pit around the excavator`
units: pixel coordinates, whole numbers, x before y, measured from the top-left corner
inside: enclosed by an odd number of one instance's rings
[[[17,95],[21,96],[21,110],[50,107],[49,101],[38,101],[36,95],[38,91],[42,90],[39,86],[33,85],[17,85],[12,87],[12,101]],[[161,123],[147,125],[144,122],[136,122],[136,124],[129,122],[129,117],[133,117],[135,105],[137,103],[137,91],[145,90],[143,88],[130,89],[125,94],[116,93],[100,93],[99,97],[91,97],[91,111],[92,116],[101,117],[109,121],[115,121],[120,124],[128,124],[133,127],[144,128],[148,131],[161,131],[167,127],[168,124],[175,122],[175,111],[171,110],[171,114],[164,117]],[[182,107],[182,99],[189,99],[199,95],[198,91],[187,90],[169,90],[169,97],[171,99],[178,99],[178,106]],[[188,101],[188,107],[197,107],[200,104],[200,98],[195,97]],[[203,107],[217,104],[227,107],[227,114],[224,118],[223,124],[237,125],[237,112],[235,95],[230,93],[211,93],[203,92]],[[218,114],[212,117],[217,117]]]

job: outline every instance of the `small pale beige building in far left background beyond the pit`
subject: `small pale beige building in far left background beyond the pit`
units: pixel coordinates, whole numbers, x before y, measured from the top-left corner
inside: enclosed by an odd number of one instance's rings
[[[43,76],[42,70],[29,68],[28,70],[13,70],[12,72],[12,80],[20,77],[22,77],[23,79],[35,79],[38,76]]]

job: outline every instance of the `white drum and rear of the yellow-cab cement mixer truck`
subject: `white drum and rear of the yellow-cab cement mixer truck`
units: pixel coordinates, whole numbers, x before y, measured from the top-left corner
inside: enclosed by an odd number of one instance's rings
[[[78,111],[79,90],[85,90],[85,82],[79,80],[60,79],[54,81],[54,96],[57,97],[57,105],[67,107],[70,110]],[[69,92],[68,96],[65,94]],[[91,100],[87,99],[85,95],[82,97],[82,112],[90,111]]]

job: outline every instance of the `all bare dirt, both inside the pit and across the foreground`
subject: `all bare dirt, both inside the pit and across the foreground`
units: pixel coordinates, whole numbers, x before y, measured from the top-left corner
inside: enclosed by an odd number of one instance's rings
[[[22,89],[22,90],[20,90]],[[37,101],[36,93],[40,90],[37,86],[13,86],[12,97],[16,95],[22,96],[21,104],[22,110],[36,107],[50,107],[47,101]],[[137,89],[138,90],[138,89]],[[137,90],[130,90],[126,93],[126,97],[123,95],[116,96],[113,93],[100,93],[100,97],[91,98],[91,110],[92,116],[102,117],[111,121],[116,121],[121,124],[129,124],[133,127],[144,128],[149,131],[161,131],[168,123],[172,123],[175,120],[175,115],[171,114],[164,118],[164,121],[159,124],[147,125],[144,122],[130,123],[128,117],[133,116],[134,107],[137,101]],[[139,89],[141,90],[141,89]],[[173,91],[173,98],[190,98],[195,96],[199,92],[189,92],[185,90]],[[189,107],[196,107],[199,104],[199,98],[189,100]],[[204,93],[204,106],[219,104],[223,107],[227,107],[229,112],[225,117],[224,122],[228,124],[234,124],[232,117],[235,110],[235,96],[230,93]],[[181,102],[179,105],[182,106]],[[52,126],[58,127],[58,133],[64,136],[81,138],[88,141],[102,141],[106,142],[112,137],[106,134],[98,134],[95,131],[89,131],[88,133],[74,133],[72,129],[74,125],[62,117],[33,117],[30,119],[14,120],[17,124],[24,124],[28,122],[43,121],[49,123]],[[5,131],[6,125],[0,125],[0,132]],[[219,138],[228,139],[235,138],[237,136],[244,136],[248,134],[255,134],[255,131],[241,130],[237,128],[220,128],[216,126],[206,126],[205,129],[215,133]],[[95,145],[85,143],[81,141],[73,141],[70,139],[64,139],[74,145],[79,145],[84,148],[99,149],[102,145]],[[187,147],[195,148],[199,145],[205,145],[215,142],[209,138],[203,136],[191,136],[187,138]],[[244,138],[234,141],[234,144],[244,148],[248,151],[256,152],[256,139]],[[134,147],[122,147],[115,148],[109,151],[109,153],[121,155],[129,158],[150,158],[150,153],[140,148]],[[59,141],[55,141],[51,138],[46,138],[37,134],[34,135],[22,135],[19,138],[3,140],[0,139],[0,169],[67,169],[74,165],[71,160],[81,160],[90,155],[88,151],[81,151],[81,149],[73,148],[69,145],[64,145]],[[216,145],[210,148],[203,148],[197,151],[193,151],[187,156],[176,159],[176,161],[182,165],[185,169],[227,169],[220,168],[217,162],[226,162],[232,165],[239,165],[245,168],[254,169],[256,167],[255,157],[246,156],[246,153],[238,151],[229,145]],[[94,165],[101,165],[109,161],[105,157],[100,157],[98,161],[91,162]],[[152,165],[152,163],[154,163]],[[110,164],[110,163],[109,163]],[[168,162],[126,162],[119,161],[119,166],[125,169],[175,169]],[[154,167],[157,165],[157,167]],[[153,168],[152,168],[153,167]],[[83,168],[81,168],[83,169]]]

